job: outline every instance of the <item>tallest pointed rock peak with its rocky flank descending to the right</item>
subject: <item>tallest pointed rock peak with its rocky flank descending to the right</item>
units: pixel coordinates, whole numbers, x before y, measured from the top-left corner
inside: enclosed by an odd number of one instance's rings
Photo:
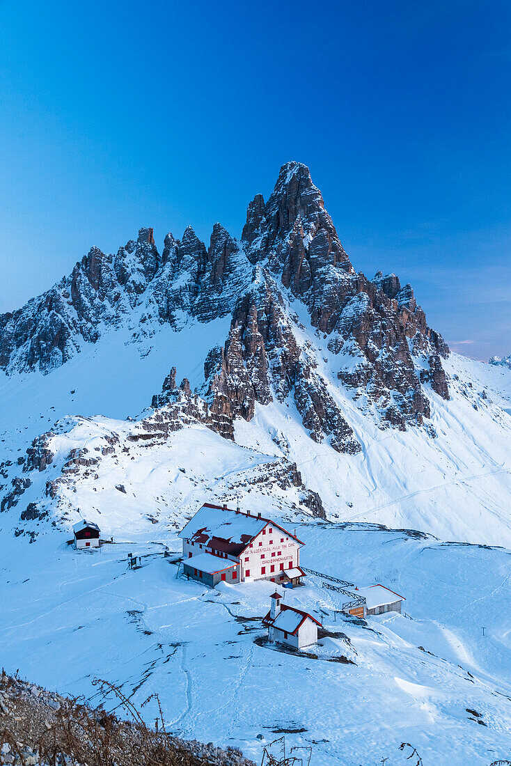
[[[384,421],[404,428],[429,417],[413,355],[427,361],[423,381],[448,398],[440,357],[449,350],[411,286],[401,289],[395,274],[370,281],[355,273],[305,165],[283,165],[267,205],[260,195],[251,202],[242,241],[252,262],[265,261],[306,303],[313,325],[332,336],[330,351],[349,356],[339,379],[365,389]]]

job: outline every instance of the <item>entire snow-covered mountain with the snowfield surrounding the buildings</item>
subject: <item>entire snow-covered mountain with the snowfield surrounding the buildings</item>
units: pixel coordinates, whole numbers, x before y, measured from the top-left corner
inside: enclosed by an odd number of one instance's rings
[[[508,755],[511,371],[450,353],[394,274],[357,273],[304,165],[239,241],[215,224],[209,247],[187,228],[160,252],[142,228],[92,248],[0,317],[0,368],[10,671],[157,691],[176,733],[256,761],[261,729],[312,743],[313,766],[358,764],[355,738],[368,763],[401,763],[401,741],[424,764],[448,742],[460,766]],[[300,529],[304,565],[385,581],[414,619],[339,625],[310,578],[286,597],[323,618],[318,656],[254,643],[269,584],[204,591],[169,563],[203,502]],[[72,551],[83,517],[113,542]]]

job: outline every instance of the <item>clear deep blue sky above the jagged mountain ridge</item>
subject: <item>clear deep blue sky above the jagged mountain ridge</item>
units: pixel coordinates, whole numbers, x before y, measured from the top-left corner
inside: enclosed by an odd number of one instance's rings
[[[0,311],[142,225],[239,236],[288,159],[355,268],[511,353],[511,4],[0,2]]]

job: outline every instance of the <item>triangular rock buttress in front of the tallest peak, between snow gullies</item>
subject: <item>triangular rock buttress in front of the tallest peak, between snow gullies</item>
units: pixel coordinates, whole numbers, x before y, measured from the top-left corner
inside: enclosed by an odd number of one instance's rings
[[[268,274],[236,306],[224,349],[213,349],[205,364],[208,399],[221,402],[233,419],[254,417],[256,401],[285,401],[293,393],[303,425],[316,441],[328,436],[338,452],[359,452],[351,427],[342,417],[326,384],[306,364],[306,350],[296,341],[283,297]]]

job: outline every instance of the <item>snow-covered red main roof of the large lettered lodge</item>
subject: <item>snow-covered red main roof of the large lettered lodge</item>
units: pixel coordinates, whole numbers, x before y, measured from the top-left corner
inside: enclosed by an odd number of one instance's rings
[[[267,524],[275,526],[303,545],[295,535],[270,519],[212,506],[209,503],[198,509],[182,532],[179,532],[179,537],[201,545],[212,545],[217,550],[231,555],[239,555]]]

